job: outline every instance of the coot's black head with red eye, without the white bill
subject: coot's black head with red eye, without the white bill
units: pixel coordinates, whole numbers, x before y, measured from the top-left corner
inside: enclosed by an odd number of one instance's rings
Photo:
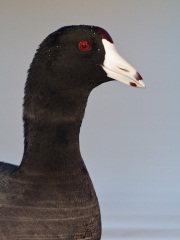
[[[112,80],[107,78],[102,68],[104,58],[105,49],[98,27],[63,27],[41,43],[29,77],[36,71],[37,77],[40,77],[36,79],[37,85],[46,81],[50,88],[54,86],[56,90],[76,87],[92,89]]]

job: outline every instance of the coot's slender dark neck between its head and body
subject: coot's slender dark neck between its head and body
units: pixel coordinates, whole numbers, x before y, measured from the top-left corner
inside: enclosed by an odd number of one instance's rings
[[[89,91],[68,89],[56,93],[46,89],[36,95],[26,92],[25,147],[20,169],[58,175],[81,171],[85,166],[79,149],[79,133]]]

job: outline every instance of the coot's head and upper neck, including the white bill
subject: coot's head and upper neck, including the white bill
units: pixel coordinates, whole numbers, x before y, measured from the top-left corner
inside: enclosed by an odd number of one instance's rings
[[[51,112],[78,114],[79,104],[87,101],[91,90],[111,80],[144,86],[104,29],[85,25],[60,28],[40,44],[32,61],[24,113],[38,119],[45,119]]]

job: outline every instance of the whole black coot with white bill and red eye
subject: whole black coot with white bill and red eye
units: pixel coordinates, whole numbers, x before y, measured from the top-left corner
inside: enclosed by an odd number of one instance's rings
[[[24,97],[20,166],[0,163],[0,239],[100,239],[98,200],[79,150],[91,90],[141,76],[95,26],[68,26],[39,46]]]

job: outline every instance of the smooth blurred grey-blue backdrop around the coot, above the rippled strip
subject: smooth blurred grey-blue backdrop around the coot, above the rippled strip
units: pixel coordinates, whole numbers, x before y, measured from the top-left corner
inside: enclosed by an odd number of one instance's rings
[[[0,160],[22,158],[23,89],[35,50],[49,33],[72,24],[105,28],[147,86],[106,83],[88,101],[81,152],[103,226],[113,211],[180,216],[178,0],[0,0]]]

